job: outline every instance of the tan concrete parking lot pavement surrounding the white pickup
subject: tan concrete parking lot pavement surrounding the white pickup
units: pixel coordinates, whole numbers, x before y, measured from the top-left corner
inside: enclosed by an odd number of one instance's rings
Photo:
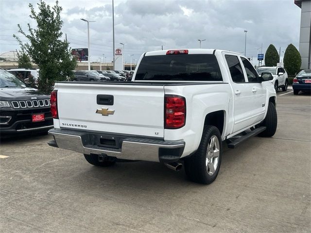
[[[286,93],[273,138],[226,149],[210,185],[157,163],[94,167],[49,135],[1,140],[0,232],[311,232],[311,96]]]

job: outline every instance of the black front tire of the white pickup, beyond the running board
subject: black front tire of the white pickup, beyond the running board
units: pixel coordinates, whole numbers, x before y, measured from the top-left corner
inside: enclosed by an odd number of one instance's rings
[[[277,128],[276,106],[272,102],[269,102],[266,118],[264,118],[264,120],[259,125],[266,127],[265,131],[259,133],[259,136],[261,137],[272,137],[276,133]]]

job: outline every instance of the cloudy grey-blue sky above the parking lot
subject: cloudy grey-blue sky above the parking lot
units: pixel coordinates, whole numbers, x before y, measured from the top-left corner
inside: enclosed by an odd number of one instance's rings
[[[0,53],[18,50],[13,38],[17,24],[35,26],[29,17],[29,3],[38,0],[0,0]],[[53,5],[55,1],[47,0]],[[112,60],[112,0],[59,0],[63,7],[62,32],[71,48],[87,48],[90,23],[91,61],[99,57]],[[114,0],[115,44],[126,43],[125,61],[133,61],[145,51],[172,48],[223,49],[244,52],[257,63],[261,43],[263,52],[274,44],[281,53],[292,43],[298,49],[300,8],[294,0]],[[18,34],[18,33],[17,33]],[[25,40],[25,37],[21,37]],[[104,54],[104,55],[103,55]]]

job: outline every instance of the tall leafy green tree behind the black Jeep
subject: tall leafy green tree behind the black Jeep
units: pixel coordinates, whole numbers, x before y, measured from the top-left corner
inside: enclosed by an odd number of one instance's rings
[[[35,12],[34,5],[29,4],[31,11],[30,18],[36,21],[37,27],[31,28],[28,23],[28,33],[24,32],[17,24],[18,32],[23,34],[29,42],[22,43],[17,35],[13,35],[22,50],[26,51],[40,68],[38,88],[51,91],[52,86],[57,81],[65,81],[73,77],[73,71],[77,61],[71,55],[69,43],[62,37],[63,21],[60,18],[62,7],[58,5],[58,0],[53,7],[40,0],[38,13]]]

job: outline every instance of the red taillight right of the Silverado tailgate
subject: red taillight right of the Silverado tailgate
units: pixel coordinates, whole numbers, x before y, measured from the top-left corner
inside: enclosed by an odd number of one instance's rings
[[[186,124],[186,99],[173,95],[165,95],[164,99],[164,128],[183,127]]]

